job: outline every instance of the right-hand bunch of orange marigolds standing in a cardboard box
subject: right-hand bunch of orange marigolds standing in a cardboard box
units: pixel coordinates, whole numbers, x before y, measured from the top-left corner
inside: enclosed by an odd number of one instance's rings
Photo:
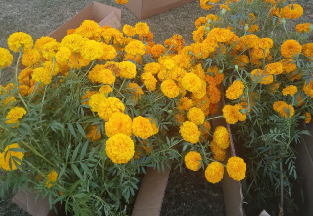
[[[299,125],[309,123],[313,113],[313,43],[306,42],[313,25],[287,31],[289,20],[303,14],[291,0],[200,0],[200,5],[221,11],[196,20],[190,50],[225,76],[223,114],[247,162],[248,215],[264,208],[273,216],[295,215],[296,157],[290,144],[309,134]]]

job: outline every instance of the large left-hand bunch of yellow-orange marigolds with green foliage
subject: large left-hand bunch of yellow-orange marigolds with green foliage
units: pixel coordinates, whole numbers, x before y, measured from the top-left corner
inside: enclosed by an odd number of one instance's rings
[[[162,172],[185,162],[211,183],[221,181],[224,167],[233,179],[245,178],[241,158],[218,162],[228,130],[211,132],[225,75],[201,59],[217,55],[218,42],[152,40],[146,23],[122,33],[91,20],[61,42],[33,44],[22,32],[8,38],[19,57],[12,83],[0,86],[2,196],[25,187],[48,196],[51,208],[65,203],[67,214],[121,216],[145,167]],[[12,59],[0,48],[0,70]]]

